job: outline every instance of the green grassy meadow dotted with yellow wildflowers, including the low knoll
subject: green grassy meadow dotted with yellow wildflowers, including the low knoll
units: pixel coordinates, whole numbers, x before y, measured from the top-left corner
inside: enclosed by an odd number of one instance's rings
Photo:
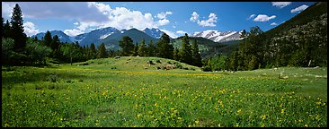
[[[204,73],[157,57],[2,67],[2,126],[323,127],[326,76],[323,67]]]

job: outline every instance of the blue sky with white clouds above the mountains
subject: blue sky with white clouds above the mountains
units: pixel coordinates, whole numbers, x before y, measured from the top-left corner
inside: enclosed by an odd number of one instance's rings
[[[202,30],[271,30],[315,2],[18,2],[28,36],[62,30],[69,36],[103,27],[159,28],[175,38]],[[10,20],[14,2],[2,2]]]

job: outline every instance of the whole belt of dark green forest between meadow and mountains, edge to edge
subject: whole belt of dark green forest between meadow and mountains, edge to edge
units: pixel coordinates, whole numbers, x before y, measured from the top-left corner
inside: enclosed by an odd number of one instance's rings
[[[280,66],[327,65],[326,3],[308,7],[280,26],[263,32],[258,26],[243,31],[242,40],[233,45],[212,46],[208,39],[189,38],[187,34],[170,39],[163,34],[155,43],[134,41],[123,36],[120,50],[91,44],[60,42],[49,31],[42,39],[24,34],[22,11],[15,4],[11,21],[2,19],[2,63],[4,65],[45,65],[82,62],[113,56],[158,56],[202,67],[203,71],[253,70]],[[207,46],[208,49],[204,47]],[[199,48],[201,47],[201,48]],[[236,48],[237,47],[237,48]],[[201,58],[202,56],[202,58]]]

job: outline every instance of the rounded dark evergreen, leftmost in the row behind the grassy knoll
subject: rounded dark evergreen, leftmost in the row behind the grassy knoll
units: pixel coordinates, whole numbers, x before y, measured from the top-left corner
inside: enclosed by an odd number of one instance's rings
[[[133,40],[129,36],[124,36],[119,41],[119,46],[122,48],[122,56],[130,56],[134,51]]]

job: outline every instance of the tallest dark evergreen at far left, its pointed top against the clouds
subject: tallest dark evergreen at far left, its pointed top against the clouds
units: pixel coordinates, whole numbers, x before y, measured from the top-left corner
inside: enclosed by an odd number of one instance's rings
[[[14,49],[22,51],[26,47],[26,34],[24,33],[22,11],[19,4],[13,7],[13,15],[11,18],[11,38],[14,40]]]

